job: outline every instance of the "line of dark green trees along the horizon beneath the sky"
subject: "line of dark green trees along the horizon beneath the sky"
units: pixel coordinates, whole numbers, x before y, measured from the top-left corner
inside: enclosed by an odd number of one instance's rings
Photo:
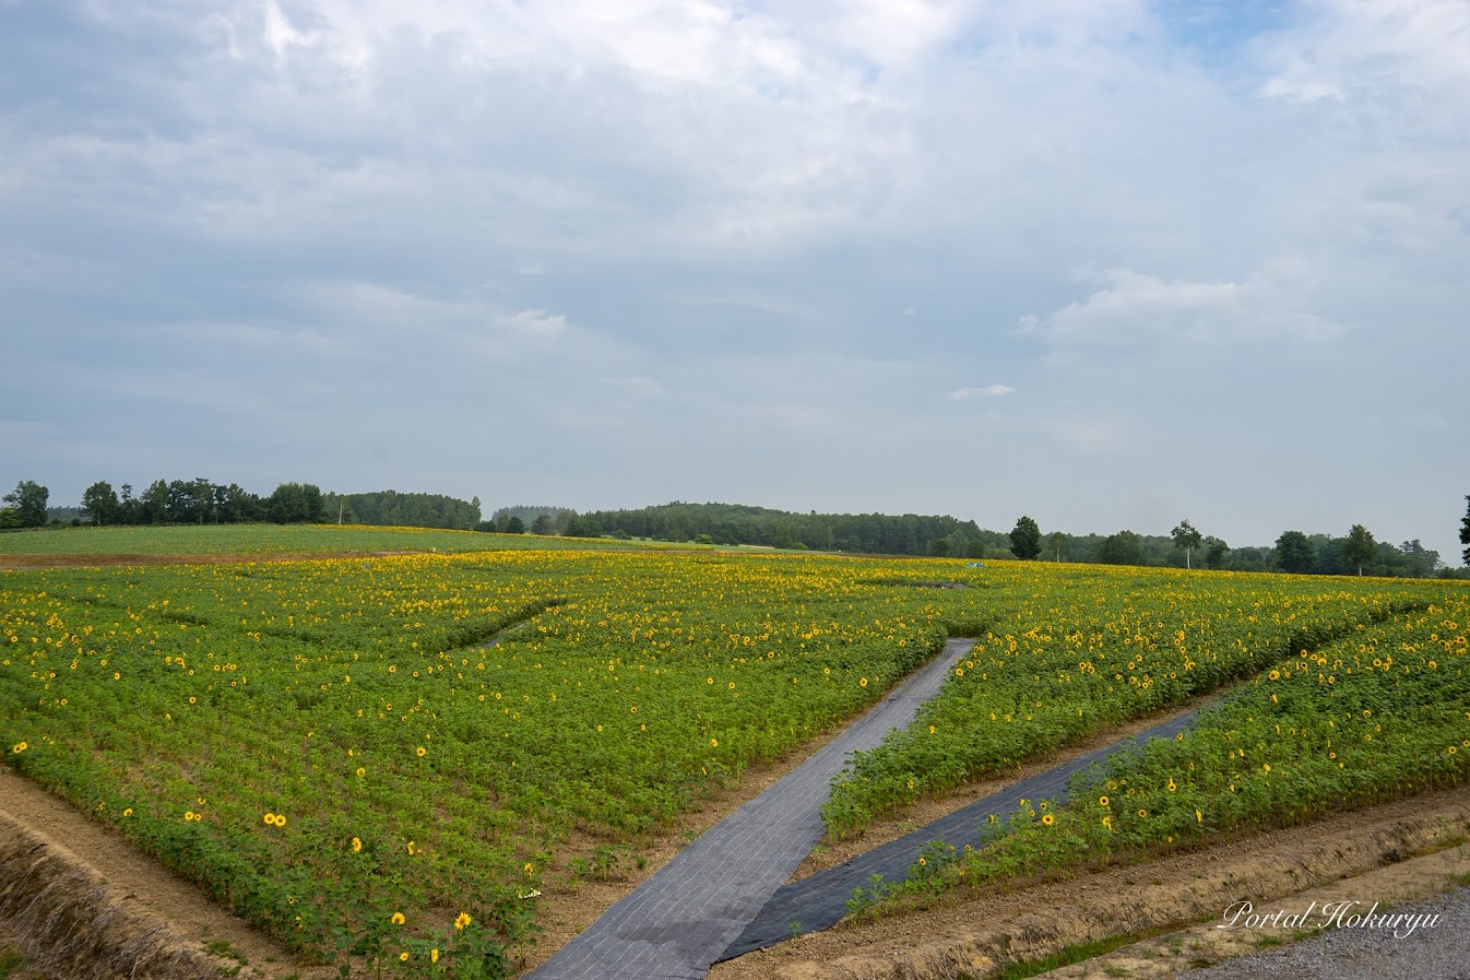
[[[22,480],[3,500],[0,530],[43,527],[54,521],[49,490]],[[1470,496],[1466,497],[1470,505]],[[1180,521],[1169,536],[1123,530],[1116,534],[1042,534],[1030,516],[1022,516],[1010,534],[980,528],[975,521],[916,514],[795,514],[732,503],[672,502],[632,511],[578,514],[557,506],[500,508],[481,519],[479,497],[459,500],[434,493],[323,494],[316,484],[282,483],[269,496],[238,484],[194,480],[154,480],[134,496],[100,480],[82,493],[78,522],[87,524],[235,524],[266,521],[344,522],[395,527],[498,531],[509,534],[560,534],[566,537],[641,537],[707,544],[759,544],[769,547],[925,555],[954,558],[1022,558],[1105,565],[1202,567],[1226,571],[1285,571],[1322,575],[1449,574],[1439,552],[1419,539],[1391,544],[1379,542],[1361,524],[1342,537],[1283,531],[1272,547],[1230,547],[1216,536],[1201,534]],[[1460,528],[1470,565],[1470,506]]]

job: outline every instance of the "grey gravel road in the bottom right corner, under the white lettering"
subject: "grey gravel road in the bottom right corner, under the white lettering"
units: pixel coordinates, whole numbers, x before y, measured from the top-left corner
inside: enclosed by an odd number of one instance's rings
[[[1276,906],[1255,909],[1274,912]],[[1288,915],[1304,909],[1285,906]],[[1341,917],[1367,911],[1363,906]],[[1316,909],[1308,924],[1320,924],[1335,909]],[[1398,933],[1379,920],[1372,927],[1329,927],[1320,936],[1279,949],[1230,959],[1204,970],[1191,970],[1188,980],[1470,980],[1470,889],[1455,889],[1438,898],[1399,905],[1380,915],[1438,915],[1433,927],[1408,931],[1401,920]],[[1408,931],[1408,934],[1404,934]]]

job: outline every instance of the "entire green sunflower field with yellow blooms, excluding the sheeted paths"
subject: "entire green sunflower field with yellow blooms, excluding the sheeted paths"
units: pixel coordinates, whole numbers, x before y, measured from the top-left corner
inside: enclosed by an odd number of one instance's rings
[[[639,868],[691,806],[844,724],[951,634],[978,637],[973,655],[836,787],[833,840],[1230,693],[1069,806],[1036,800],[992,853],[936,849],[907,901],[1470,771],[1470,592],[1454,584],[451,531],[116,536],[97,552],[359,556],[0,572],[6,762],[285,945],[360,968],[513,971],[548,898]],[[394,550],[417,553],[360,556]]]

